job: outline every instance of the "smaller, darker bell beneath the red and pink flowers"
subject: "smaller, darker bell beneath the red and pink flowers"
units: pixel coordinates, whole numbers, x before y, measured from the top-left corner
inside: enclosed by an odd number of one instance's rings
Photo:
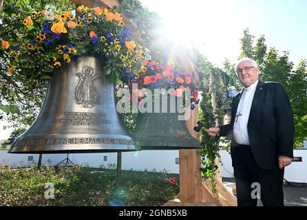
[[[184,120],[178,120],[182,115],[178,112],[176,102],[172,103],[167,98],[167,112],[162,111],[162,98],[160,111],[154,113],[138,113],[138,121],[134,130],[134,143],[138,150],[178,150],[200,148],[200,142],[191,136]],[[175,104],[171,111],[171,104]]]

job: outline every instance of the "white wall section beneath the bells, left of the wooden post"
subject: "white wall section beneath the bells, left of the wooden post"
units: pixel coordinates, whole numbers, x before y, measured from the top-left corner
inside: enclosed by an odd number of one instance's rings
[[[28,165],[28,156],[32,155],[35,162],[38,162],[37,154],[16,154],[0,151],[0,164],[10,164],[10,166]],[[107,156],[107,161],[103,161]],[[67,154],[43,154],[43,165],[56,165],[67,157]],[[133,151],[122,153],[123,170],[156,170],[157,172],[166,169],[169,173],[179,173],[179,164],[176,158],[179,151]],[[108,164],[117,163],[117,153],[70,153],[68,158],[74,164],[87,165],[90,167],[107,167]],[[30,162],[31,163],[31,162]],[[65,162],[64,162],[65,163]]]

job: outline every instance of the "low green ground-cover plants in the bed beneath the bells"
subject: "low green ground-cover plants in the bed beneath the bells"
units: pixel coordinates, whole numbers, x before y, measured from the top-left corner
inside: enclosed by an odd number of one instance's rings
[[[178,183],[169,174],[122,171],[80,166],[10,168],[0,166],[1,206],[162,206],[176,197]],[[54,199],[45,199],[45,184],[54,184]]]

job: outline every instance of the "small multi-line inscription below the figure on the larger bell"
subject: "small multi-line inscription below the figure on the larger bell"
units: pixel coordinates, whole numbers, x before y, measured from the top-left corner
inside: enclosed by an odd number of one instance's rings
[[[110,124],[107,120],[100,120],[100,118],[105,116],[105,113],[65,111],[64,118],[61,118],[59,122],[72,126]]]

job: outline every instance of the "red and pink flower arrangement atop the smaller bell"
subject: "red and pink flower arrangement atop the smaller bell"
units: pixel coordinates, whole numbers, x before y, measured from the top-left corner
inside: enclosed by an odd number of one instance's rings
[[[166,89],[171,96],[183,96],[187,89],[191,90],[191,109],[198,104],[197,78],[187,71],[182,72],[176,65],[160,65],[157,61],[144,61],[138,87],[145,89]]]

